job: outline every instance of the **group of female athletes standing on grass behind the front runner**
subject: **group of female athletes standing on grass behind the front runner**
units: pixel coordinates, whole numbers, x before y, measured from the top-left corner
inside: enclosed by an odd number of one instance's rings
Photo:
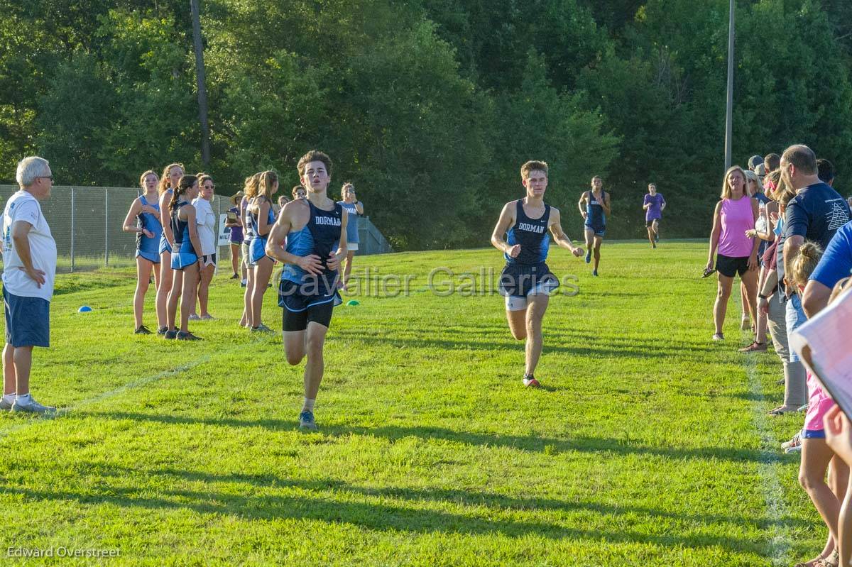
[[[133,298],[134,329],[137,335],[152,331],[142,322],[145,295],[152,275],[157,290],[157,334],[166,339],[197,341],[188,329],[190,320],[212,319],[208,311],[210,282],[216,273],[218,244],[217,216],[211,207],[214,185],[210,175],[185,175],[181,163],[170,163],[158,178],[148,170],[140,178],[141,196],[130,205],[124,219],[124,232],[136,234],[137,282]],[[265,249],[278,211],[289,201],[279,197],[279,180],[274,171],[262,171],[245,179],[242,191],[232,197],[233,208],[226,226],[230,228],[232,278],[245,287],[244,310],[239,325],[252,331],[272,332],[262,323],[263,295],[272,278],[275,261]],[[355,196],[352,183],[343,185],[340,201],[350,215],[363,215],[364,206]],[[303,186],[295,186],[292,196],[306,198]],[[348,225],[348,256],[343,270],[345,285],[352,272],[354,251],[358,249],[358,224]],[[177,306],[181,304],[180,324]],[[196,305],[199,312],[196,312]]]

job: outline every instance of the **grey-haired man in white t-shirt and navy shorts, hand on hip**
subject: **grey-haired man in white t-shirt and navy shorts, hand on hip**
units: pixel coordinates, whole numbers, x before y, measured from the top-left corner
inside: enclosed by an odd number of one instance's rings
[[[20,160],[20,190],[3,210],[3,398],[0,409],[43,414],[55,408],[30,393],[32,348],[50,346],[50,300],[56,275],[56,242],[38,203],[50,197],[53,174],[46,159]]]

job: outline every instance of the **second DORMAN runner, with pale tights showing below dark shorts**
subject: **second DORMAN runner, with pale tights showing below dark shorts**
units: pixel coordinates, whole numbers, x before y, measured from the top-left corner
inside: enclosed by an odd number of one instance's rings
[[[544,203],[547,172],[547,163],[523,164],[521,183],[527,189],[527,197],[504,205],[491,235],[494,248],[506,258],[500,274],[500,295],[506,298],[509,330],[518,341],[527,341],[523,379],[526,387],[540,386],[533,373],[541,356],[541,321],[550,293],[559,287],[559,279],[544,263],[550,246],[548,231],[559,246],[571,250],[575,256],[583,255],[583,249],[575,247],[562,232],[559,210]]]

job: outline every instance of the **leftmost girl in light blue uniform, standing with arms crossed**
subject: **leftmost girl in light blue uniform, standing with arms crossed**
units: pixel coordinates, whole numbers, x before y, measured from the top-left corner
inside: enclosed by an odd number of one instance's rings
[[[163,232],[159,221],[157,203],[157,174],[151,170],[141,175],[139,184],[145,192],[134,199],[124,218],[124,232],[136,234],[136,290],[133,295],[133,317],[136,335],[150,335],[151,330],[142,324],[142,311],[145,306],[145,294],[154,272],[155,286],[159,288],[160,277],[155,266],[159,264],[158,241]]]

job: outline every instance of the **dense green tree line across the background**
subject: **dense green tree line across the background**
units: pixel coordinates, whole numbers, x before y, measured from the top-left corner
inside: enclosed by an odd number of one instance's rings
[[[0,180],[30,154],[65,185],[135,186],[166,163],[217,191],[317,147],[397,249],[484,246],[527,159],[579,238],[602,175],[607,236],[709,232],[722,184],[728,0],[199,0],[201,162],[187,0],[0,0]],[[740,0],[734,161],[801,141],[852,172],[852,4]],[[852,174],[850,174],[852,175]],[[849,191],[846,191],[849,192]]]

